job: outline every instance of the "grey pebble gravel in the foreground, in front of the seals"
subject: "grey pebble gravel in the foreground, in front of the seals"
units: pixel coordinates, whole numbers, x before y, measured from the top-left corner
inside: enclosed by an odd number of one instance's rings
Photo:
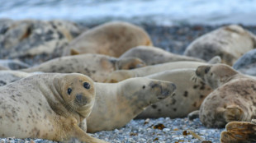
[[[220,142],[220,132],[225,129],[206,128],[199,118],[189,121],[187,118],[148,118],[131,120],[126,127],[115,129],[113,131],[99,131],[91,134],[104,141],[115,143],[130,143],[130,142],[156,142],[156,143],[178,143],[178,142]],[[190,131],[196,133],[197,136],[192,136]],[[36,142],[36,143],[56,143],[55,141],[46,141],[41,139],[15,139],[7,138],[0,139],[1,142]],[[78,141],[73,141],[78,142]]]

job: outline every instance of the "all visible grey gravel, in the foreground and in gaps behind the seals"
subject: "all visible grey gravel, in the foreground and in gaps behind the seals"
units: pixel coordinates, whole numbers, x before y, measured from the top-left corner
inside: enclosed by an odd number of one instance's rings
[[[94,25],[86,25],[92,27]],[[183,51],[192,40],[197,37],[215,30],[220,25],[174,25],[174,26],[160,26],[160,25],[146,25],[141,24],[142,27],[149,33],[153,40],[154,46],[164,48],[173,53],[183,54]],[[256,34],[256,26],[244,26],[245,29]],[[56,53],[55,53],[56,54]],[[21,61],[30,65],[39,64],[50,58],[58,57],[57,55],[47,57],[46,55],[36,56],[34,58],[21,58]],[[193,131],[198,137],[192,136],[189,132]],[[187,118],[157,118],[157,119],[139,119],[131,120],[126,127],[116,129],[114,131],[99,131],[92,134],[97,138],[110,142],[220,142],[220,132],[224,129],[206,128],[198,118],[189,121]],[[199,137],[200,138],[200,137]],[[2,142],[55,142],[45,141],[41,139],[15,139],[6,138],[0,139]]]

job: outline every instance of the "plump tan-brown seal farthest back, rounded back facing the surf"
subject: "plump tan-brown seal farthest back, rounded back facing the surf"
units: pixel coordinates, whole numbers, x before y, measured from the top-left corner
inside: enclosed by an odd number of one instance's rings
[[[120,57],[138,45],[153,45],[145,30],[127,22],[112,21],[87,30],[64,48],[64,56],[81,53],[101,53]]]

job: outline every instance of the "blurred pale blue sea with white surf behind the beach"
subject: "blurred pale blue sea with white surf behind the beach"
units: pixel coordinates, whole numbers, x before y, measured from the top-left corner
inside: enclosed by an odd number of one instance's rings
[[[256,0],[0,0],[0,18],[157,25],[256,24]]]

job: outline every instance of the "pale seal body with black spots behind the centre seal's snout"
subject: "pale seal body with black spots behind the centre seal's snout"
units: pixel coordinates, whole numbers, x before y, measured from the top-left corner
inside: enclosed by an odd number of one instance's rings
[[[137,118],[184,118],[188,113],[198,110],[212,89],[200,78],[194,78],[195,71],[196,68],[185,68],[145,76],[155,80],[172,81],[177,88],[172,97],[152,104]]]

